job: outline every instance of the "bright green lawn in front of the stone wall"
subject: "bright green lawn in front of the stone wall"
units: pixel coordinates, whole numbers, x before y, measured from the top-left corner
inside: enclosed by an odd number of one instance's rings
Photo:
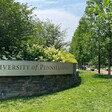
[[[112,78],[81,71],[82,83],[44,96],[0,101],[0,112],[112,112]]]

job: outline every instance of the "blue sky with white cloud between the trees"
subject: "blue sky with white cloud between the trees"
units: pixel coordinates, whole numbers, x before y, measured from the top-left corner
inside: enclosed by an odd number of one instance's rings
[[[34,13],[37,17],[60,25],[66,30],[65,41],[71,41],[80,18],[84,14],[86,0],[16,0],[37,7]]]

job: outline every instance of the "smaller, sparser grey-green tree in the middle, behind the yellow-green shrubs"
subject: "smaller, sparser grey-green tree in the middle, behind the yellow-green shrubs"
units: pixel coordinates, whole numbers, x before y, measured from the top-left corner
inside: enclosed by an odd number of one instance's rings
[[[44,47],[54,46],[59,49],[67,45],[64,42],[65,31],[61,31],[60,25],[51,23],[50,20],[45,22],[38,20],[36,24],[36,37]]]

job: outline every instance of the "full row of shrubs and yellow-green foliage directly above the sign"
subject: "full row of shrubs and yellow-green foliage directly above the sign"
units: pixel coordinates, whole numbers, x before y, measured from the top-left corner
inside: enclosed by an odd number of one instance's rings
[[[13,48],[14,49],[14,48]],[[54,46],[43,47],[42,45],[27,44],[19,51],[13,51],[11,54],[8,51],[2,52],[1,60],[30,60],[30,61],[55,61],[55,62],[72,62],[77,63],[74,55],[64,49],[56,49]]]

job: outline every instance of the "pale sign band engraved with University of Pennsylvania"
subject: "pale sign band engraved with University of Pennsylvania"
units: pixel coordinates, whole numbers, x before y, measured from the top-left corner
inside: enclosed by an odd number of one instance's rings
[[[74,73],[73,63],[0,61],[0,76],[63,75]]]

